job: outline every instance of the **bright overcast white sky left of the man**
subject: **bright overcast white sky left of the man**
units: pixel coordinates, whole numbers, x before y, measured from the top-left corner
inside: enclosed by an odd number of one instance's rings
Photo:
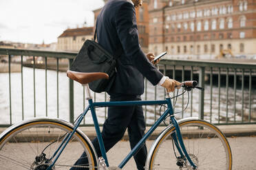
[[[0,41],[57,42],[65,29],[94,25],[103,0],[0,0]]]

